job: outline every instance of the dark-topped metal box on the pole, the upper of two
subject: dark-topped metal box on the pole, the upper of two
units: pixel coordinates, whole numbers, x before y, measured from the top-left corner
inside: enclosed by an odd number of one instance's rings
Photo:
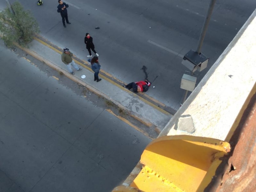
[[[196,70],[204,70],[207,67],[208,60],[209,58],[203,53],[198,54],[197,52],[190,50],[184,55],[181,63],[190,71],[195,72]]]

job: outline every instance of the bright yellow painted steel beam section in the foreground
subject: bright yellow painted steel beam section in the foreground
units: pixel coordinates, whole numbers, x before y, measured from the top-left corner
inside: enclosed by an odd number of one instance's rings
[[[212,138],[157,138],[141,155],[144,167],[130,186],[145,192],[203,191],[220,164],[220,157],[229,151],[229,143]]]

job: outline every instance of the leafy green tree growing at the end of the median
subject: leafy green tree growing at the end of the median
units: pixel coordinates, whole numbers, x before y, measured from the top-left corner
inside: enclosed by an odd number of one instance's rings
[[[33,40],[40,33],[38,23],[30,10],[24,10],[20,2],[12,4],[14,14],[8,8],[0,12],[0,37],[7,45],[17,42],[22,46]]]

